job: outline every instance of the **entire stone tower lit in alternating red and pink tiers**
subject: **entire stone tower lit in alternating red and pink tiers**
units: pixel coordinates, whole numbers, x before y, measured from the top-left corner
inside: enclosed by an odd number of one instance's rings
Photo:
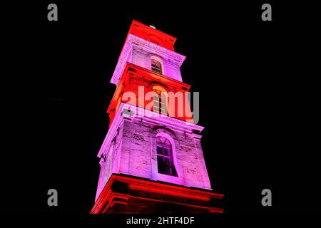
[[[200,145],[203,127],[185,99],[185,56],[174,51],[175,41],[153,26],[131,24],[111,78],[117,87],[91,213],[223,212]]]

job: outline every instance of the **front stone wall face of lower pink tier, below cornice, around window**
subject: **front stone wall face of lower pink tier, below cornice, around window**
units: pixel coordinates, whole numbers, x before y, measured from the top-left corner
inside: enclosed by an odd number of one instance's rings
[[[158,174],[156,136],[173,139],[173,156],[178,177]],[[140,118],[125,119],[120,172],[187,187],[210,189],[202,148],[192,133],[161,128]]]

